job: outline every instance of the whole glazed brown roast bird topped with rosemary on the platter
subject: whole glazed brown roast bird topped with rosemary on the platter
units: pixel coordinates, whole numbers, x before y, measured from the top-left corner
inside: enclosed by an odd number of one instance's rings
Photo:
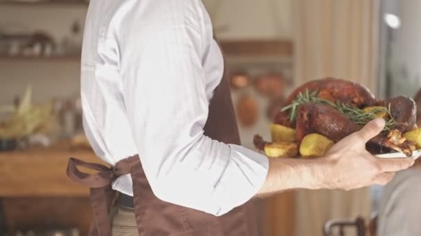
[[[376,117],[386,119],[386,126],[368,141],[367,150],[373,154],[402,152],[411,156],[417,148],[417,140],[406,138],[413,135],[404,134],[417,129],[415,101],[404,96],[379,100],[360,83],[344,79],[318,79],[296,88],[276,115],[274,125],[287,132],[294,130],[289,133],[294,137],[281,134],[287,139],[280,141],[300,146],[307,135],[316,134],[329,140],[331,145],[328,146],[332,146]],[[259,135],[253,141],[259,150],[265,150],[265,145],[271,144]]]

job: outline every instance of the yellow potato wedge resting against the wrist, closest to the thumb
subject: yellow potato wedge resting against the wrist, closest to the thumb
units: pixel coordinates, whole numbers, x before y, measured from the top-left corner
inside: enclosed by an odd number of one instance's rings
[[[302,157],[321,157],[328,153],[334,142],[323,135],[316,133],[305,135],[300,145]]]

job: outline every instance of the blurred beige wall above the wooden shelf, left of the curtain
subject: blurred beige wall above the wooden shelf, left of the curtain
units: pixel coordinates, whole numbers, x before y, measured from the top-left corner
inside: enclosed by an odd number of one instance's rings
[[[203,0],[221,39],[292,39],[292,0]]]

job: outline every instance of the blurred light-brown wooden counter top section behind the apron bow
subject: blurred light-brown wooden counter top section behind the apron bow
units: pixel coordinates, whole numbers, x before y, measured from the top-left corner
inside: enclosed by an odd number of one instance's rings
[[[103,164],[93,151],[69,144],[0,152],[0,197],[87,197],[89,188],[66,176],[69,157]]]

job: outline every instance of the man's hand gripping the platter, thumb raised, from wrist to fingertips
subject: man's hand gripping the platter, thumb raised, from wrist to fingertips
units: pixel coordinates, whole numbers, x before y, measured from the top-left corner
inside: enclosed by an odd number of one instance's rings
[[[335,144],[324,157],[326,166],[326,188],[350,190],[373,184],[384,185],[393,179],[395,172],[413,165],[412,157],[382,159],[366,150],[366,142],[384,128],[384,119],[375,119],[358,132]]]

